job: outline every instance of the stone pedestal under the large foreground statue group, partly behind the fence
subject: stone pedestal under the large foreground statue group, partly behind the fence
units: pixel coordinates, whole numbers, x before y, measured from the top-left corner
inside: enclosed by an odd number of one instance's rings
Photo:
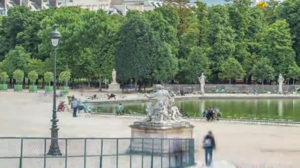
[[[180,122],[143,122],[137,121],[131,128],[131,151],[134,153],[151,153],[152,145],[154,147],[154,153],[168,153],[169,146],[173,146],[174,140],[162,140],[162,139],[192,139],[193,128],[188,121]],[[150,139],[139,139],[150,138]],[[154,140],[152,140],[154,138]],[[157,138],[157,139],[155,139]],[[153,144],[152,144],[153,143]],[[185,142],[184,142],[185,143]],[[188,143],[188,140],[187,140]],[[186,144],[183,144],[186,145]],[[188,144],[187,144],[188,145]],[[130,150],[130,146],[129,149]]]

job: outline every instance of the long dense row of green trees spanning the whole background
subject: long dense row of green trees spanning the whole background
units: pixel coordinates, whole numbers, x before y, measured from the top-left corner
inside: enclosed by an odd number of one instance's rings
[[[225,5],[186,7],[185,0],[153,11],[107,15],[79,7],[30,11],[14,7],[0,18],[0,70],[53,71],[48,34],[58,24],[62,34],[57,71],[76,78],[122,83],[251,83],[300,77],[300,0],[269,0],[265,8],[252,0],[226,0]]]

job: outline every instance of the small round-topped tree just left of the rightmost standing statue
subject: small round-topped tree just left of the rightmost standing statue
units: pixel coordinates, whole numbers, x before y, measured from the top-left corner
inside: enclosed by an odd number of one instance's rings
[[[274,68],[271,66],[270,60],[267,57],[262,57],[253,66],[250,74],[256,80],[261,80],[262,84],[264,80],[274,79]]]

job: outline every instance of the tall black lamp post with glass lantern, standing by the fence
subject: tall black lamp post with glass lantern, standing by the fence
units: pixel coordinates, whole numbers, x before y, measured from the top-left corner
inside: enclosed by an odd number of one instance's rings
[[[62,153],[60,152],[59,149],[59,145],[58,145],[58,130],[59,128],[57,128],[57,115],[56,115],[56,47],[59,44],[59,40],[61,38],[60,32],[57,30],[57,25],[54,24],[52,27],[52,31],[50,32],[49,35],[50,39],[51,39],[51,44],[54,47],[54,53],[53,53],[53,59],[54,59],[54,79],[53,79],[53,113],[52,113],[52,125],[51,125],[51,144],[50,144],[50,149],[48,151],[48,155],[62,155]]]

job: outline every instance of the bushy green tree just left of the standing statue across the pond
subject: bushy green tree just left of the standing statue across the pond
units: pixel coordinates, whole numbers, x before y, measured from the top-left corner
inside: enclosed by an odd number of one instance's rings
[[[210,76],[210,60],[207,57],[203,48],[194,46],[187,59],[180,59],[181,75],[184,81],[197,83],[198,76],[204,73],[205,76]]]

